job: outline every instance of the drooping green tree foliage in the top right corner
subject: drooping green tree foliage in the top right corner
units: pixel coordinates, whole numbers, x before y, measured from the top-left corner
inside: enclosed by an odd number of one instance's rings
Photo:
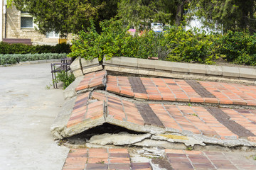
[[[210,28],[226,30],[249,29],[255,32],[256,1],[254,0],[193,0],[191,9]]]

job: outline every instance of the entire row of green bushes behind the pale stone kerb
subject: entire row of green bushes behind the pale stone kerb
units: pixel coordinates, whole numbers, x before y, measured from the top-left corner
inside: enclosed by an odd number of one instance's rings
[[[198,30],[184,30],[173,26],[162,33],[144,31],[142,35],[130,35],[129,27],[122,21],[111,19],[100,23],[102,33],[97,33],[94,24],[78,33],[73,40],[70,57],[85,60],[103,56],[159,57],[174,62],[198,62],[213,64],[218,58],[235,64],[256,65],[256,34],[228,31],[222,34],[206,34]]]

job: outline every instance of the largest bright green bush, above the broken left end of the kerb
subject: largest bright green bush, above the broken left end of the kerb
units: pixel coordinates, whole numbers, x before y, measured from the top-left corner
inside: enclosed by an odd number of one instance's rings
[[[72,52],[69,57],[84,57],[85,60],[103,56],[110,59],[113,56],[126,56],[147,58],[157,56],[157,45],[159,36],[154,31],[144,33],[144,35],[132,36],[127,33],[129,27],[124,27],[122,21],[111,19],[100,23],[102,33],[97,33],[94,23],[90,28],[81,30],[78,39],[73,40]]]

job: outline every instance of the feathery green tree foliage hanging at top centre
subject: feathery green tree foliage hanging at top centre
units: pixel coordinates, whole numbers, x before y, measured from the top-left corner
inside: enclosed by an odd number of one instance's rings
[[[151,22],[180,25],[187,0],[120,0],[118,16],[134,26]]]

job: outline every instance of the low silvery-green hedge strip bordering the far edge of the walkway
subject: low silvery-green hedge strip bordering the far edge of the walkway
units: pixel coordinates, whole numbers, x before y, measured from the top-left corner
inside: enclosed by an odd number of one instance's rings
[[[50,59],[62,59],[67,57],[68,54],[62,53],[43,53],[43,54],[14,54],[14,55],[0,55],[0,65],[4,64],[16,64],[17,62],[26,62],[34,60],[50,60]]]

